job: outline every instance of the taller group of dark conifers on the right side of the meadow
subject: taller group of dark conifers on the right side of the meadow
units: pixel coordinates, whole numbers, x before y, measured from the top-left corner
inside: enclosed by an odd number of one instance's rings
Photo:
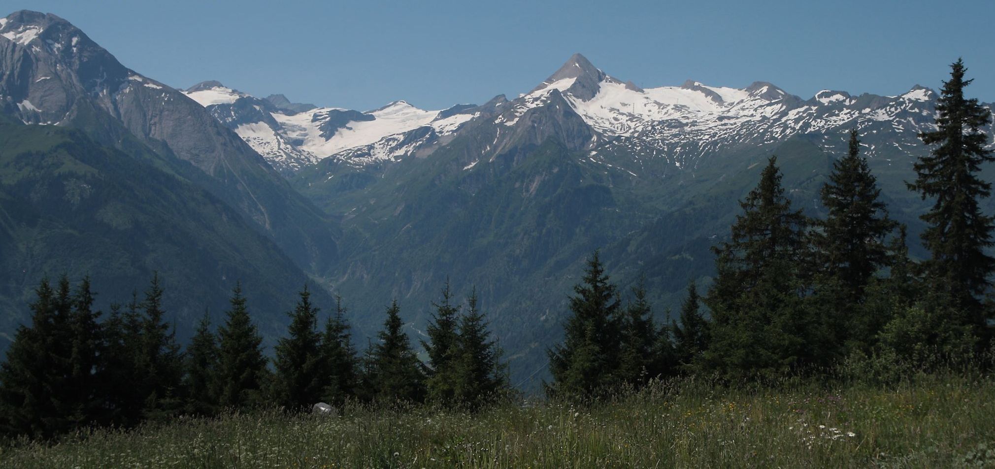
[[[623,306],[595,253],[571,300],[564,342],[548,352],[547,393],[596,397],[621,383],[688,373],[742,381],[841,363],[895,373],[990,359],[982,356],[992,339],[993,217],[979,200],[991,184],[978,172],[995,157],[981,131],[991,113],[964,97],[964,72],[959,60],[951,66],[937,127],[919,135],[932,149],[907,184],[933,200],[921,216],[930,258],[909,259],[905,227],[889,217],[856,128],[822,188],[823,219],[791,208],[771,157],[739,202],[729,240],[712,248],[710,289],[699,299],[689,286],[680,323],[654,324],[641,287]]]

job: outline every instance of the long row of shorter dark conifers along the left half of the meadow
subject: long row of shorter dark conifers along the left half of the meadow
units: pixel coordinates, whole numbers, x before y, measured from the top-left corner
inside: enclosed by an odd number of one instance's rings
[[[261,407],[300,411],[319,401],[474,409],[510,390],[476,293],[463,312],[448,285],[422,343],[427,363],[402,330],[396,302],[378,341],[360,355],[341,298],[319,327],[305,286],[271,362],[241,286],[224,324],[213,331],[205,313],[185,351],[164,320],[162,294],[155,275],[141,301],[133,295],[101,318],[89,279],[75,287],[65,276],[55,286],[42,280],[31,323],[0,364],[0,436],[48,439],[81,427]]]

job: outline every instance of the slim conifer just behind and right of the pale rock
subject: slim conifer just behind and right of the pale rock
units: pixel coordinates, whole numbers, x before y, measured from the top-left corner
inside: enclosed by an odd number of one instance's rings
[[[322,400],[341,404],[345,399],[357,397],[359,385],[359,363],[356,350],[352,346],[352,334],[345,321],[345,307],[342,297],[335,295],[335,314],[329,316],[321,338],[321,352],[324,355],[324,371],[327,384],[322,389]]]

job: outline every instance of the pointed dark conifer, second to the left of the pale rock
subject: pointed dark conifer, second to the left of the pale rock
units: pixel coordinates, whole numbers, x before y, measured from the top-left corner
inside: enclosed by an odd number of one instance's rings
[[[230,302],[225,325],[218,329],[218,403],[222,407],[246,408],[262,403],[266,357],[261,348],[263,338],[249,317],[241,283],[236,284]]]

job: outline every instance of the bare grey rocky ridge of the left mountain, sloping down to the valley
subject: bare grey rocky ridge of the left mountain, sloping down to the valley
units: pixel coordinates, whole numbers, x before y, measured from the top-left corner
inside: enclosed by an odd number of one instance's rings
[[[299,266],[337,256],[332,221],[203,107],[127,69],[69,22],[20,11],[0,21],[0,96],[26,123],[75,126],[131,152],[143,143],[170,170],[237,209]]]

